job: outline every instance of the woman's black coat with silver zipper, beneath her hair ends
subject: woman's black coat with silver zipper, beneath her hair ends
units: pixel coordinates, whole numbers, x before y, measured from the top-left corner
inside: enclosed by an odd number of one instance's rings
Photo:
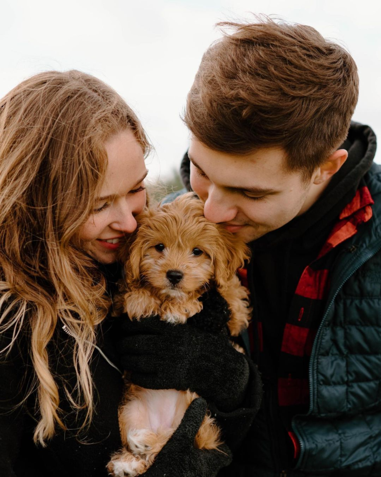
[[[111,319],[99,325],[98,344],[104,353],[117,363],[113,350]],[[63,330],[56,330],[50,347],[52,369],[59,378],[61,408],[69,411],[69,403],[62,391],[63,378],[69,389],[75,386],[72,366],[73,338]],[[27,340],[19,340],[10,356],[0,363],[0,476],[1,477],[106,477],[110,455],[121,448],[118,406],[121,402],[121,373],[111,367],[94,350],[90,364],[94,380],[95,413],[90,427],[77,436],[84,414],[78,420],[73,412],[64,418],[67,431],[57,429],[46,447],[33,443],[38,419],[35,412],[35,393],[28,401],[12,410],[20,402],[31,378],[32,366],[28,358]],[[0,349],[5,345],[0,334]]]

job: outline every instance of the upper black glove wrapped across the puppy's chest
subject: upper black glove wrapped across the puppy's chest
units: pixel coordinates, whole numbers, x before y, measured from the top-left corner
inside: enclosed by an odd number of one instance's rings
[[[191,389],[228,411],[241,404],[249,380],[247,358],[229,341],[229,310],[215,291],[185,325],[158,316],[131,321],[121,315],[117,348],[131,381],[148,389]]]

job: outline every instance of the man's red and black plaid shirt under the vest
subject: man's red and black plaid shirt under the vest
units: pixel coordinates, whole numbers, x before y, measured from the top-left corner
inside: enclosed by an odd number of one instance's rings
[[[305,410],[309,405],[309,360],[323,317],[329,292],[329,271],[335,259],[335,254],[329,252],[355,235],[359,225],[372,217],[373,203],[369,189],[365,185],[361,186],[341,212],[318,257],[304,269],[299,279],[281,344],[277,386],[280,409],[286,410],[291,406],[295,409],[295,406],[299,406]],[[246,270],[240,270],[239,275],[242,284],[247,286]],[[263,343],[261,321],[257,322],[257,326],[260,352],[263,352],[266,345]],[[295,445],[296,457],[297,441],[292,432],[289,435]]]

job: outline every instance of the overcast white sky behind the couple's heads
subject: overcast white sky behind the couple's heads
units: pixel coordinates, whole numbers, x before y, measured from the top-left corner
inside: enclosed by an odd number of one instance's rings
[[[138,112],[156,149],[150,176],[163,178],[188,145],[180,114],[204,50],[220,37],[214,24],[249,12],[344,44],[360,74],[354,119],[381,137],[381,2],[372,0],[0,0],[0,96],[44,70],[98,76]]]

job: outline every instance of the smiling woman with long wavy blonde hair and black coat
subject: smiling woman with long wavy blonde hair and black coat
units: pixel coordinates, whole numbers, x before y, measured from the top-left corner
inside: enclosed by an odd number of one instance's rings
[[[148,150],[134,112],[85,73],[40,73],[0,101],[3,477],[105,476],[121,446],[107,312],[118,247],[145,204]],[[226,463],[194,454],[204,414],[196,401],[162,452],[191,459],[188,475]],[[146,475],[161,475],[163,462]]]

